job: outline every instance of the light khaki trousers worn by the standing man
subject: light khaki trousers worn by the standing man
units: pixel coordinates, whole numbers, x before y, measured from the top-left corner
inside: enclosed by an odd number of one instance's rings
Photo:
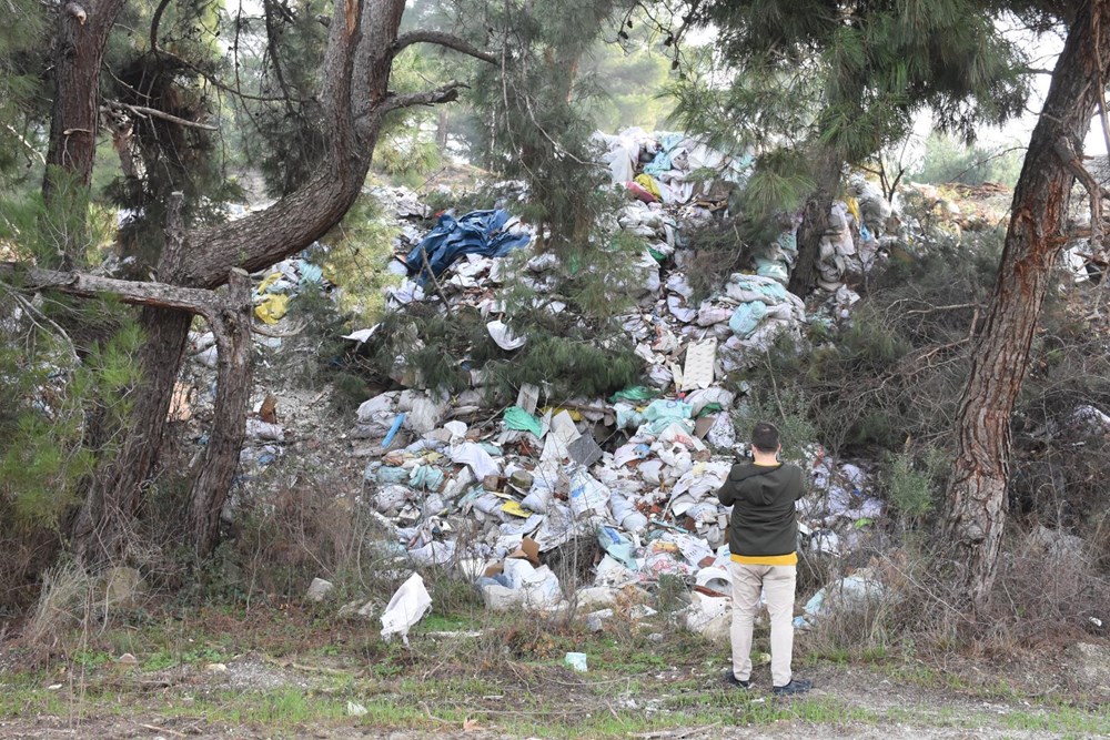
[[[733,675],[751,676],[751,629],[763,590],[770,615],[770,676],[775,686],[790,682],[794,657],[794,584],[797,566],[730,562],[733,574]]]

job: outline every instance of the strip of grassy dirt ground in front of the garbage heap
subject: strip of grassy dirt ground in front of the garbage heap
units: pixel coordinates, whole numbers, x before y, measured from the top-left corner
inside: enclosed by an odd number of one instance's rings
[[[727,648],[665,619],[606,635],[522,616],[426,618],[410,647],[320,607],[167,615],[71,636],[65,657],[0,651],[0,738],[1093,738],[1110,693],[1060,656],[1007,665],[815,650],[805,696],[727,687]],[[649,632],[648,630],[658,630]],[[757,635],[757,648],[766,635]],[[81,647],[83,645],[83,647]],[[123,651],[130,656],[120,660]],[[588,671],[563,665],[588,656]]]

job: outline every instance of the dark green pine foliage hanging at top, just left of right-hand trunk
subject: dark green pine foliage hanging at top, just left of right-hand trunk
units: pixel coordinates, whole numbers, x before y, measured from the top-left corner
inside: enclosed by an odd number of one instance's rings
[[[1022,52],[968,0],[715,0],[690,20],[718,39],[687,55],[672,88],[675,119],[725,151],[754,150],[757,171],[779,173],[748,189],[753,220],[795,207],[814,174],[807,163],[860,164],[902,139],[919,110],[971,141],[977,125],[1020,113],[1028,93]],[[790,168],[763,165],[784,151]]]

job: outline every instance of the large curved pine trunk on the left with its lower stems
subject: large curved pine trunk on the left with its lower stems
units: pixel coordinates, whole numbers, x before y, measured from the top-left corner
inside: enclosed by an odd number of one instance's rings
[[[365,4],[365,8],[364,8]],[[404,0],[341,0],[335,3],[329,27],[329,45],[321,70],[319,99],[329,129],[327,159],[320,173],[302,189],[269,209],[239,221],[189,232],[159,262],[159,278],[194,288],[215,288],[228,281],[232,268],[261,270],[310,246],[346,214],[357,199],[370,169],[382,116],[396,107],[389,92],[394,42],[404,12]],[[437,102],[446,98],[432,98]],[[189,331],[188,314],[145,308],[142,327],[145,342],[140,355],[145,384],[138,395],[134,427],[113,460],[95,474],[89,500],[73,528],[73,549],[87,562],[118,555],[125,544],[154,474],[165,432],[167,413],[173,395]],[[245,362],[249,342],[231,341],[233,365]],[[243,401],[250,386],[228,388],[225,403]],[[235,406],[238,409],[239,406]],[[239,413],[232,410],[231,413]],[[233,426],[238,425],[239,436]],[[242,443],[242,422],[220,427],[213,435],[224,455],[234,447],[235,460]],[[211,450],[210,450],[211,452]],[[189,520],[198,536],[200,555],[216,543],[218,517],[235,466],[215,465],[205,485],[194,487]],[[222,489],[221,489],[222,486]],[[214,518],[216,517],[216,518]]]

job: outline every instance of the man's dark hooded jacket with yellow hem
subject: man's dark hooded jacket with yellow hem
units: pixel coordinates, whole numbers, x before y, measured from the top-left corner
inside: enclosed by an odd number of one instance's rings
[[[722,505],[733,507],[728,537],[733,559],[749,565],[797,562],[794,503],[805,493],[805,479],[796,465],[734,465],[717,491]]]

